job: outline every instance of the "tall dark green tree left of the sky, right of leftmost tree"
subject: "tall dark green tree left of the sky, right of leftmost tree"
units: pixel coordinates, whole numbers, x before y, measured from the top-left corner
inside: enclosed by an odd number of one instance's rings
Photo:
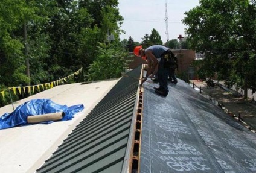
[[[97,55],[98,42],[106,43],[107,34],[118,42],[117,1],[69,1],[58,4],[59,11],[51,16],[46,27],[51,37],[51,58],[46,71],[59,78],[82,66],[86,70]]]

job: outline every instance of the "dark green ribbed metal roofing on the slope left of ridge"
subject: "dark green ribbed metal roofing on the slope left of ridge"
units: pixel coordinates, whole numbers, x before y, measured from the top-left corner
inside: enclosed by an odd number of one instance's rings
[[[140,72],[121,78],[37,172],[122,172]]]

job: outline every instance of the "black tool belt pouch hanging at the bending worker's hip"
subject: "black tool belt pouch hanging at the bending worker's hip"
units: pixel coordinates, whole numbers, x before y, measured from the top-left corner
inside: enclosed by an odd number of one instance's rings
[[[175,55],[173,54],[173,52],[171,52],[170,49],[168,49],[167,51],[165,51],[161,57],[164,59],[164,68],[174,68],[176,69],[178,64],[177,64],[177,58],[175,57]]]

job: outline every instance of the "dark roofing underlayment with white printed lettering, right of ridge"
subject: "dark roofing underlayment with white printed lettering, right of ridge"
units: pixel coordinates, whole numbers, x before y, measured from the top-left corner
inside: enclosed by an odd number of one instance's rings
[[[140,172],[256,172],[256,134],[184,81],[145,83]]]

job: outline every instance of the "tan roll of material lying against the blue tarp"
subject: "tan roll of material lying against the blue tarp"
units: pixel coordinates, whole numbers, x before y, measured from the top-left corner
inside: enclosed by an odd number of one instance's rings
[[[45,122],[45,121],[57,121],[57,120],[61,120],[64,115],[65,115],[64,112],[56,112],[56,113],[46,113],[43,115],[28,116],[27,122],[39,123],[39,122]]]

